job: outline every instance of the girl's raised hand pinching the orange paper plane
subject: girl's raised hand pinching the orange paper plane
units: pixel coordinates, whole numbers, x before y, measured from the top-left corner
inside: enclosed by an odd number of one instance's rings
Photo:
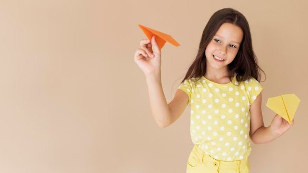
[[[160,50],[155,41],[155,37],[152,40],[141,40],[140,48],[135,52],[134,60],[146,76],[160,74]]]

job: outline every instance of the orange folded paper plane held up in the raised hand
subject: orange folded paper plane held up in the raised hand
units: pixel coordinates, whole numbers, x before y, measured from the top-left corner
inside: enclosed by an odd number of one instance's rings
[[[147,35],[149,40],[151,40],[152,36],[155,35],[155,40],[158,44],[159,49],[161,49],[165,45],[166,42],[169,42],[170,44],[174,46],[180,46],[180,44],[175,39],[173,39],[171,35],[159,32],[154,29],[144,27],[142,25],[138,25],[138,26]]]

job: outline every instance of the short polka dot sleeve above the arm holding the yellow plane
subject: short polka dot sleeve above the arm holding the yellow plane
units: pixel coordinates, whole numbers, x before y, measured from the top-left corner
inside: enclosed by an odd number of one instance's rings
[[[261,93],[263,87],[260,85],[260,83],[254,79],[250,78],[245,81],[245,87],[249,98],[250,105],[255,101],[257,96]]]

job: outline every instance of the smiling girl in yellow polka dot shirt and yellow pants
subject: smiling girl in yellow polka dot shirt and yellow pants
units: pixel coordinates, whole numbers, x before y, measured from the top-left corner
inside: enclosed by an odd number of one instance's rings
[[[161,84],[161,52],[152,40],[141,40],[134,59],[146,75],[152,114],[158,126],[175,122],[191,106],[190,134],[195,144],[187,173],[249,173],[250,140],[273,141],[289,124],[276,115],[264,127],[260,71],[246,18],[224,8],[206,25],[199,51],[173,100],[167,103]]]

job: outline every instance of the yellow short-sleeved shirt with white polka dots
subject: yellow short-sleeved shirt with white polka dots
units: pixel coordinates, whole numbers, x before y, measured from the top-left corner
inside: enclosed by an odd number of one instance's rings
[[[228,84],[205,77],[186,79],[179,87],[189,97],[190,135],[206,154],[220,161],[241,160],[251,151],[249,108],[262,87],[251,78]]]

